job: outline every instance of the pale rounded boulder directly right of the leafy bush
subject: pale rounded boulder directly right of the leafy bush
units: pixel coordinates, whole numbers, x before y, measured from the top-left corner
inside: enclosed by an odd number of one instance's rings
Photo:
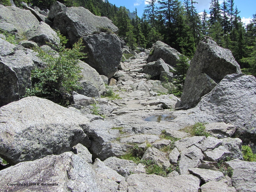
[[[83,85],[83,89],[77,90],[79,94],[84,94],[87,97],[100,97],[100,95],[105,94],[106,87],[105,83],[103,82],[102,78],[100,77],[99,73],[89,66],[87,63],[79,61],[79,66],[81,68],[81,81],[80,83]],[[83,83],[91,82],[91,83]],[[89,84],[90,86],[86,86]]]

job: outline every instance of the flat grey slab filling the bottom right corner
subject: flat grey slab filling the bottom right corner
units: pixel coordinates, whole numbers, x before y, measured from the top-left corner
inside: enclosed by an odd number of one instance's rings
[[[256,162],[235,159],[226,163],[233,169],[231,180],[237,192],[256,191]]]

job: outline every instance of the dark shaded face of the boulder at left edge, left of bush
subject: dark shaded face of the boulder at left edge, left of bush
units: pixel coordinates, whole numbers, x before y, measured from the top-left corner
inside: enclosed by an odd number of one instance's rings
[[[19,100],[19,86],[16,72],[0,61],[0,107]]]

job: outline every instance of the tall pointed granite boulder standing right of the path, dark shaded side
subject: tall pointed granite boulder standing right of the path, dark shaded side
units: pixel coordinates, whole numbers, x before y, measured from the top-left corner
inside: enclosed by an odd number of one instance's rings
[[[193,108],[201,97],[209,93],[227,74],[241,73],[240,67],[228,49],[212,39],[199,42],[187,71],[181,105]]]

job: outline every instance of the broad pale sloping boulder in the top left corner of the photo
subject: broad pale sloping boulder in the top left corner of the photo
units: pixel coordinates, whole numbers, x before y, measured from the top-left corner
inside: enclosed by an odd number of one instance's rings
[[[19,34],[24,34],[39,24],[37,18],[29,10],[3,5],[0,5],[0,23],[12,24]]]

